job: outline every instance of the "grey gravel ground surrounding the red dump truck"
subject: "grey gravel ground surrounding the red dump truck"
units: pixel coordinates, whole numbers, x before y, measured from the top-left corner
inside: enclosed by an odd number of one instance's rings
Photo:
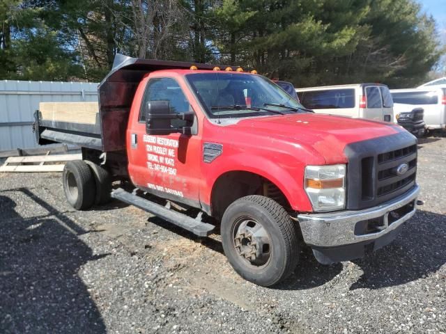
[[[0,174],[0,333],[446,333],[446,138],[420,141],[424,206],[389,246],[274,289],[134,207],[68,207],[59,173]]]

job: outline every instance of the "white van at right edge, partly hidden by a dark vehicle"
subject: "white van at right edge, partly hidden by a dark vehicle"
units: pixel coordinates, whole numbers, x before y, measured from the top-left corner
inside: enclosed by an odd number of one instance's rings
[[[390,90],[395,116],[415,108],[424,109],[426,129],[446,127],[446,86]]]

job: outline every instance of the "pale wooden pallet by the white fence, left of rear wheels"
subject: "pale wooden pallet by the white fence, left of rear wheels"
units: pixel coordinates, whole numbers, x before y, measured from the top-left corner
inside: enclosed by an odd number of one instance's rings
[[[57,154],[57,155],[35,155],[27,157],[9,157],[0,172],[36,173],[36,172],[61,172],[64,164],[47,164],[54,162],[65,162],[81,160],[82,154]],[[46,165],[45,165],[46,164]]]

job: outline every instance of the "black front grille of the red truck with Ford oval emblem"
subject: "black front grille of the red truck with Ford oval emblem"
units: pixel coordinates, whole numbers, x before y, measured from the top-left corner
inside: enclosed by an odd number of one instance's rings
[[[345,152],[347,209],[374,207],[415,185],[417,142],[408,132],[352,143]],[[405,167],[406,173],[401,173]]]

